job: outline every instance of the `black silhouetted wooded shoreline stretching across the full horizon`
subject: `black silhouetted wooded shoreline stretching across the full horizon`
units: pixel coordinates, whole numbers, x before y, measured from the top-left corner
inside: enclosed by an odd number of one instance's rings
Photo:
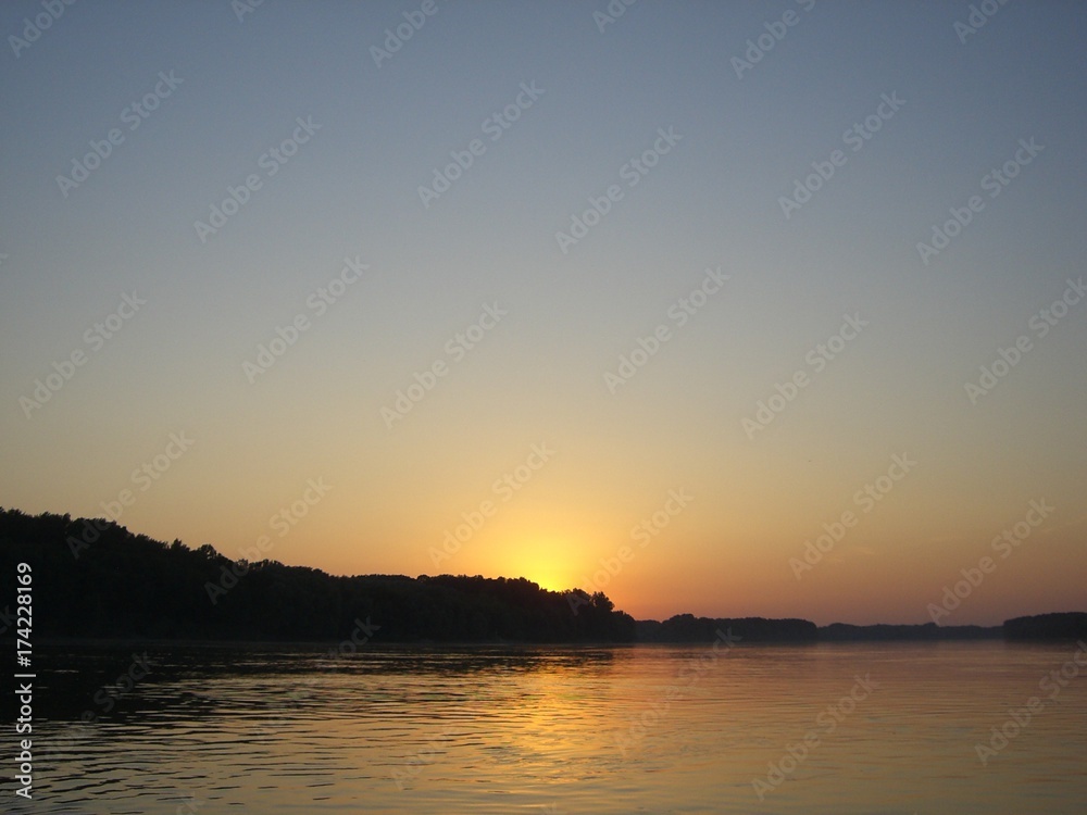
[[[602,592],[548,591],[525,578],[438,575],[340,577],[210,544],[190,549],[105,519],[0,507],[0,573],[34,575],[35,639],[336,641],[360,625],[374,643],[740,642],[1087,638],[1087,614],[1004,625],[834,624],[678,614],[635,620]],[[7,597],[14,599],[14,586]],[[10,634],[10,631],[9,631]]]

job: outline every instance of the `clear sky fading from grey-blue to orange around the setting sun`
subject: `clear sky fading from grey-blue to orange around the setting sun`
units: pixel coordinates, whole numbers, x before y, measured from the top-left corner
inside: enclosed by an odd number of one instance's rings
[[[638,618],[1083,610],[1085,23],[4,3],[0,505]]]

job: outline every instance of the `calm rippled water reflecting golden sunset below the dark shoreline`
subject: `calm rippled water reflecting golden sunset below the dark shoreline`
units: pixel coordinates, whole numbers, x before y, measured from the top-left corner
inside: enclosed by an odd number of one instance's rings
[[[707,647],[648,645],[366,645],[342,657],[146,650],[150,673],[132,690],[118,684],[130,648],[39,659],[35,802],[11,805],[8,780],[5,806],[903,815],[1087,806],[1087,667],[1071,663],[1065,687],[1050,678],[1039,688],[1050,672],[1060,677],[1074,643],[739,645],[716,660]],[[1087,653],[1079,659],[1087,664]],[[983,765],[975,744],[1032,697],[1041,706],[1025,726],[1012,722],[1012,738]],[[80,725],[80,715],[97,719]]]

